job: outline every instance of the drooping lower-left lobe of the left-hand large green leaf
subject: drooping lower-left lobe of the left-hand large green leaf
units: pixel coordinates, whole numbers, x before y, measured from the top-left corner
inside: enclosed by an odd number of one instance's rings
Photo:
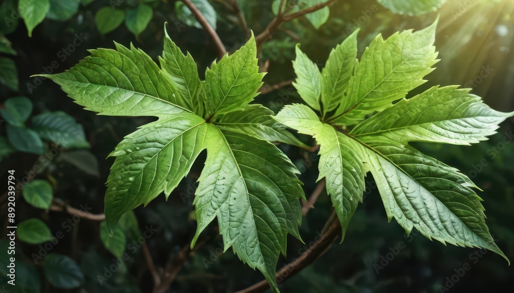
[[[178,113],[125,136],[111,153],[116,161],[107,179],[105,216],[110,235],[123,213],[148,204],[162,191],[168,198],[205,148],[206,129],[199,116]]]

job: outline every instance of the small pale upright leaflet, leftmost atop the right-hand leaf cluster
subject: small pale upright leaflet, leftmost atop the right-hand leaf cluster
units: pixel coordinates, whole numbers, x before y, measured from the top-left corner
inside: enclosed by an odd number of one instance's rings
[[[292,85],[297,89],[300,97],[315,110],[320,110],[321,95],[321,73],[314,62],[300,50],[300,45],[296,46],[296,59],[292,63],[297,75],[296,82]]]

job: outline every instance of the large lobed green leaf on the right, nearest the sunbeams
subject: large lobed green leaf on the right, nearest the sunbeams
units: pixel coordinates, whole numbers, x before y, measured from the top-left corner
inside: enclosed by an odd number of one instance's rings
[[[326,178],[343,235],[362,200],[364,175],[371,171],[389,221],[395,218],[407,234],[416,228],[429,239],[486,248],[507,259],[485,224],[482,200],[472,190],[477,187],[457,169],[409,143],[478,143],[514,112],[495,111],[469,89],[457,86],[433,87],[392,104],[423,83],[431,71],[435,24],[415,33],[394,34],[386,41],[375,38],[350,77],[341,106],[334,117],[323,119],[325,123],[298,104],[284,107],[275,119],[314,136],[320,144],[318,180]],[[340,58],[331,66],[344,63],[345,58]],[[374,111],[379,113],[364,120]],[[361,120],[353,128],[340,127]]]

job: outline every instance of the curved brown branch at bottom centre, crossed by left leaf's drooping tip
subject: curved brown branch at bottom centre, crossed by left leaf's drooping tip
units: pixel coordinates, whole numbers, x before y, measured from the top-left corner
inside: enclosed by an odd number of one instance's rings
[[[280,284],[290,277],[294,276],[302,270],[304,267],[316,261],[325,252],[332,247],[334,241],[341,235],[341,225],[339,221],[331,217],[328,221],[332,221],[328,229],[322,234],[321,238],[318,239],[313,245],[311,245],[305,252],[302,253],[297,259],[293,260],[289,264],[282,267],[275,278],[277,283]],[[235,293],[261,293],[269,288],[269,283],[266,280],[262,280],[259,283],[255,283],[248,288],[237,291]]]

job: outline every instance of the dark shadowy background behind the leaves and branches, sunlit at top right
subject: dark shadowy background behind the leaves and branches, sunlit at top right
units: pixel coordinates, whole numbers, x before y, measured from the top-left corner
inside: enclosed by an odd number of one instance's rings
[[[331,6],[328,22],[320,29],[315,30],[305,18],[299,18],[284,25],[283,30],[278,30],[272,40],[263,46],[260,65],[264,66],[269,61],[269,73],[265,76],[265,82],[267,85],[276,85],[294,78],[291,60],[294,58],[294,46],[297,43],[295,38],[302,43],[302,50],[322,66],[331,48],[344,40],[353,31],[356,23],[361,27],[358,37],[361,54],[378,33],[385,37],[403,29],[423,28],[433,22],[439,13],[436,47],[442,61],[436,65],[438,68],[427,77],[429,82],[421,89],[436,84],[467,84],[494,109],[512,111],[514,3],[509,0],[474,1],[476,3],[472,7],[461,10],[465,2],[452,0],[436,13],[402,16],[391,13],[374,0],[336,1]],[[273,17],[271,1],[244,3],[242,9],[248,26],[255,33],[261,32]],[[26,27],[20,21],[16,29],[6,35],[17,52],[13,58],[18,70],[20,90],[14,92],[6,86],[0,87],[2,103],[9,97],[24,95],[34,105],[33,114],[62,110],[83,125],[87,141],[91,145],[89,151],[96,162],[89,160],[82,164],[93,168],[98,164],[98,174],[88,174],[66,162],[63,154],[68,150],[65,150],[44,171],[37,174],[36,178],[52,182],[55,199],[72,207],[87,205],[92,208],[92,213],[103,212],[104,182],[114,161],[105,159],[108,153],[124,135],[133,132],[137,126],[152,121],[152,118],[96,115],[74,104],[57,85],[49,81],[32,86],[34,79],[29,76],[44,72],[53,61],[58,64],[53,69],[54,72],[62,72],[88,55],[87,49],[114,48],[113,40],[125,46],[132,42],[156,60],[162,52],[164,22],[168,22],[168,33],[172,40],[183,51],[187,50],[193,55],[200,75],[204,74],[205,68],[217,57],[209,35],[204,30],[183,25],[177,18],[175,4],[171,0],[149,2],[154,15],[138,38],[124,25],[102,36],[95,26],[95,13],[110,5],[107,0],[96,0],[87,6],[81,5],[78,13],[68,21],[46,19],[34,29],[32,37],[28,37]],[[137,1],[124,2],[116,9],[132,5],[137,5]],[[233,13],[222,3],[215,1],[212,5],[218,13],[217,33],[229,51],[237,49],[246,41],[244,31],[238,25],[237,19],[234,21]],[[60,52],[74,42],[77,34],[83,36],[85,41],[63,57]],[[483,74],[481,79],[475,79],[476,76],[481,76],[484,68],[492,70],[488,71],[486,77]],[[203,76],[200,77],[203,79]],[[469,83],[470,80],[475,81]],[[477,80],[481,80],[480,83]],[[409,95],[414,94],[412,92]],[[278,111],[283,104],[300,102],[300,99],[291,85],[285,85],[258,96],[256,102]],[[487,224],[498,245],[511,260],[514,260],[513,125],[514,120],[508,120],[489,141],[471,147],[432,144],[420,146],[427,154],[468,174],[483,189],[479,195],[485,200]],[[5,136],[4,125],[0,125],[0,134]],[[302,136],[302,140],[313,145],[313,141],[306,137]],[[302,170],[301,180],[305,184],[304,190],[308,197],[316,188],[317,157],[296,147],[281,145],[280,148]],[[203,155],[205,158],[205,154]],[[7,181],[7,170],[15,169],[16,177],[21,179],[38,158],[38,155],[22,152],[9,155],[0,163],[0,178],[3,182]],[[189,245],[194,235],[196,222],[192,207],[193,194],[204,158],[197,160],[189,176],[173,191],[168,201],[160,196],[147,207],[135,210],[141,231],[147,226],[157,229],[146,240],[146,245],[158,269],[166,267],[168,261],[174,259],[182,247]],[[444,290],[441,286],[449,285],[452,285],[448,288],[452,292],[514,290],[514,269],[507,266],[501,257],[490,252],[483,255],[472,248],[446,247],[416,235],[415,231],[407,237],[394,220],[393,223],[388,223],[371,175],[368,181],[364,203],[355,213],[344,242],[336,242],[313,265],[284,282],[280,286],[283,292],[439,292]],[[3,189],[6,189],[5,185]],[[17,222],[36,217],[42,219],[52,233],[63,230],[63,222],[70,218],[64,212],[36,209],[26,204],[22,197],[16,200],[16,204]],[[2,198],[0,205],[1,221],[7,223],[5,198]],[[323,191],[316,202],[316,208],[309,211],[301,227],[301,235],[307,245],[321,231],[331,212],[331,202]],[[5,226],[0,228],[3,230],[2,235],[6,235]],[[211,225],[204,232],[200,241],[205,244],[183,264],[168,291],[232,292],[263,279],[258,271],[244,265],[231,251],[219,254],[223,245],[216,229],[216,226]],[[75,289],[58,289],[52,286],[45,277],[41,263],[34,266],[31,257],[32,253],[38,253],[39,245],[17,242],[17,281],[24,282],[24,274],[39,276],[37,279],[25,279],[29,283],[36,282],[35,287],[40,289],[27,289],[24,292],[151,292],[154,281],[142,248],[136,249],[134,253],[130,252],[130,258],[103,285],[100,284],[97,276],[103,276],[105,267],[112,265],[115,257],[105,249],[99,235],[99,222],[82,219],[51,249],[52,253],[66,255],[79,264],[85,279]],[[297,258],[304,249],[304,244],[290,238],[287,258],[282,258],[278,267]],[[480,258],[473,254],[475,252]],[[0,253],[4,254],[5,251]],[[388,258],[387,262],[384,261]],[[448,282],[465,263],[470,265],[470,269],[463,276],[453,277],[453,281]],[[24,271],[22,266],[33,267],[34,270]],[[458,280],[455,281],[456,279]],[[11,290],[11,287],[6,286],[5,289]]]

